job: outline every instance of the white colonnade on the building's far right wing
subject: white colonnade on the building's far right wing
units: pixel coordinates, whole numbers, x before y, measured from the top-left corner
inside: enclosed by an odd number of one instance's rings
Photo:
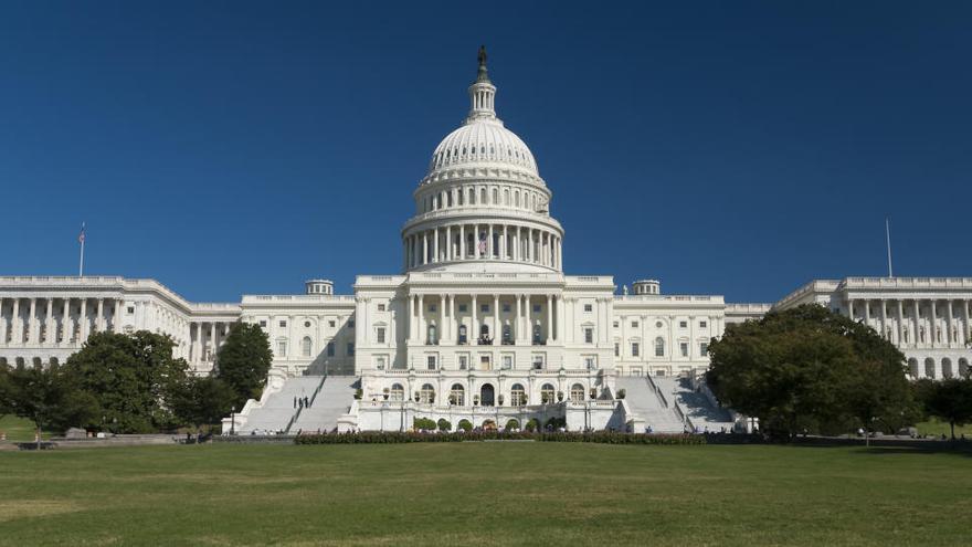
[[[963,348],[972,339],[970,301],[850,298],[847,316],[864,319],[899,347]]]

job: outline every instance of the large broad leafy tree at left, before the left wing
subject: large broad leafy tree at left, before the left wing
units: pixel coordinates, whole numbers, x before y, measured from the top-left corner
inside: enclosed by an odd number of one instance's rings
[[[172,358],[167,335],[96,333],[64,367],[72,385],[96,398],[101,420],[87,427],[115,433],[170,429],[178,420],[169,402],[184,386],[189,366]]]

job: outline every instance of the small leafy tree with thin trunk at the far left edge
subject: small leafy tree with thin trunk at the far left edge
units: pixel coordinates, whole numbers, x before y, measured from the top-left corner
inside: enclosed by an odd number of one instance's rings
[[[52,365],[18,367],[6,372],[8,404],[14,414],[33,422],[41,445],[41,430],[64,431],[82,425],[99,413],[98,402],[75,389],[64,370]]]

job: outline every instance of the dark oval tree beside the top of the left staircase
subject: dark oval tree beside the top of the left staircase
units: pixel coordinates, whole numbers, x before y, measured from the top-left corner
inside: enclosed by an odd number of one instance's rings
[[[273,364],[270,338],[258,325],[236,322],[220,348],[216,377],[236,392],[235,403],[242,408],[246,399],[260,399],[266,375]]]

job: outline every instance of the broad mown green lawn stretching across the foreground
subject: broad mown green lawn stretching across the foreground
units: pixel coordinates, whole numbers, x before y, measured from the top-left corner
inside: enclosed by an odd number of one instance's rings
[[[580,443],[0,452],[0,545],[968,545],[972,456]]]

